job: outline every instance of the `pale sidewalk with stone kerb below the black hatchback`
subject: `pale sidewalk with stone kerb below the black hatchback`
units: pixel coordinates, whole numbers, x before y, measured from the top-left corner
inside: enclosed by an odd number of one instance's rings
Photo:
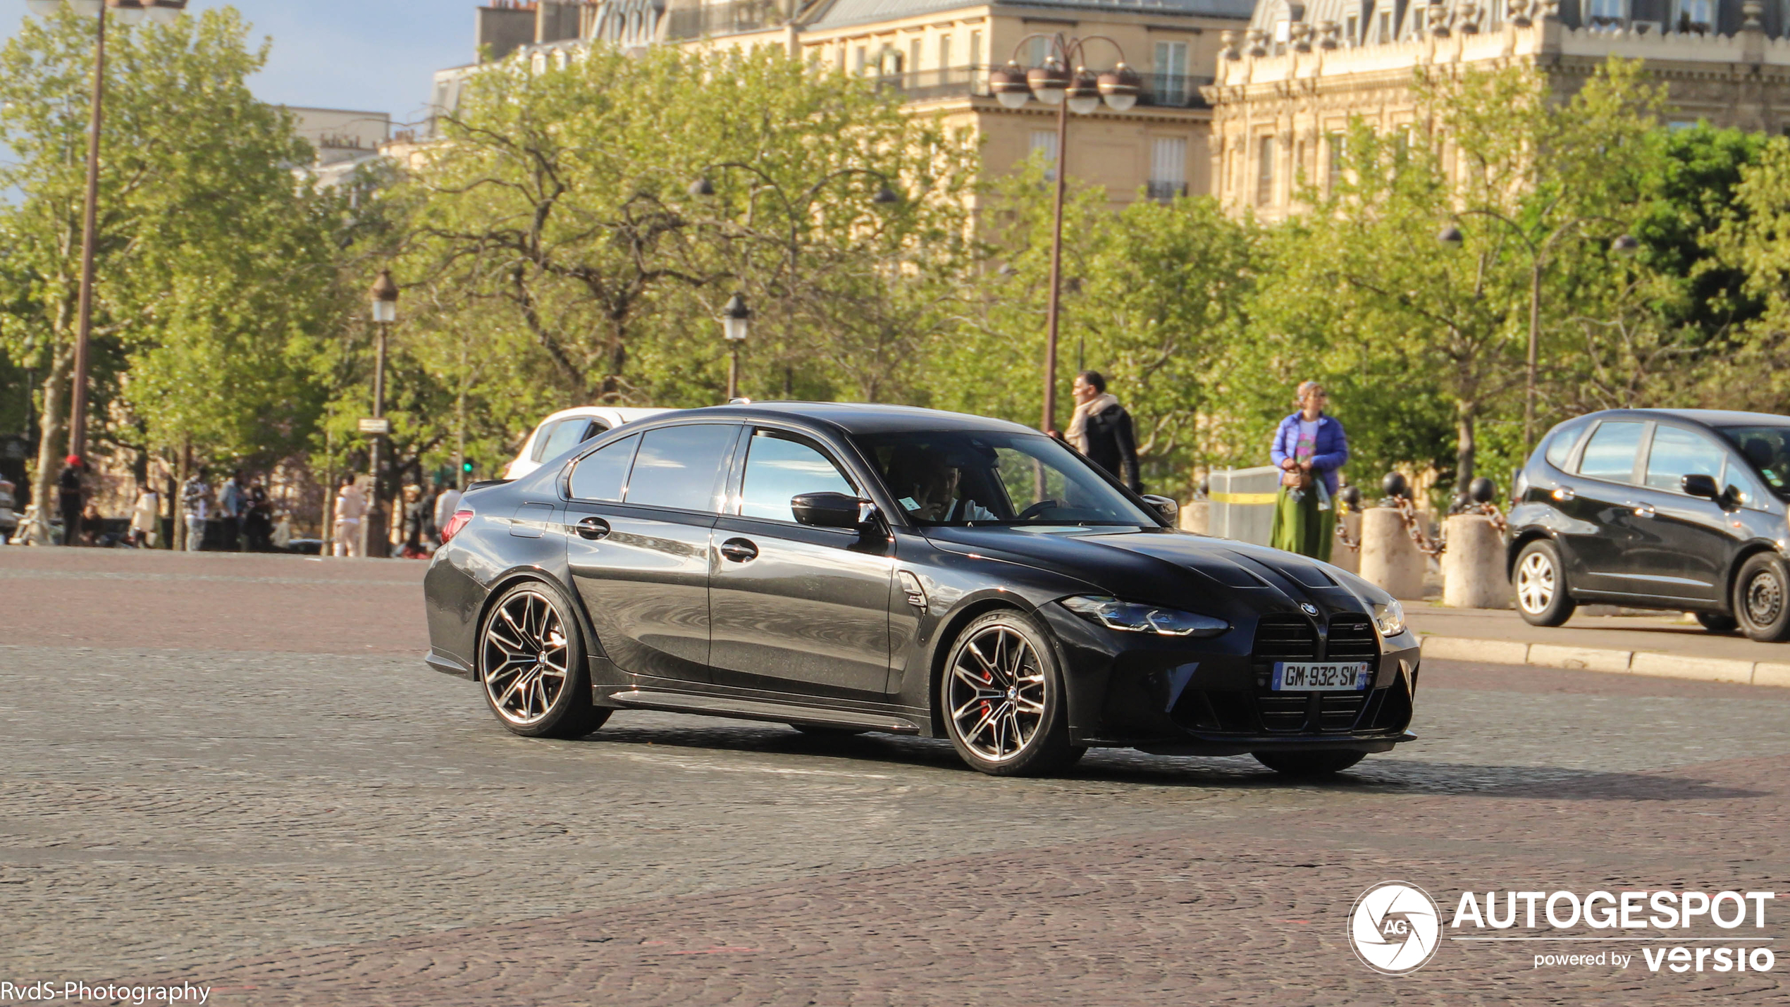
[[[1557,628],[1507,608],[1407,603],[1405,615],[1432,658],[1790,687],[1790,644],[1709,633],[1670,612],[1573,615]]]

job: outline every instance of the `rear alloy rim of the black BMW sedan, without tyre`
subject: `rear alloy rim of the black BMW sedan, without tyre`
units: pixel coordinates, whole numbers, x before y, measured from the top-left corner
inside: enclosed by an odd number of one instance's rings
[[[546,596],[507,597],[485,622],[480,671],[490,707],[516,724],[541,723],[569,678],[566,628]]]

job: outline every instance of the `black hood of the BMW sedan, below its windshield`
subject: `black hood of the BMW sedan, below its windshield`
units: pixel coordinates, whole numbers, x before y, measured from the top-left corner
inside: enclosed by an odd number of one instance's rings
[[[1310,556],[1172,528],[927,528],[925,535],[940,549],[1051,571],[1126,601],[1212,615],[1298,612],[1301,605],[1360,615],[1393,599]]]

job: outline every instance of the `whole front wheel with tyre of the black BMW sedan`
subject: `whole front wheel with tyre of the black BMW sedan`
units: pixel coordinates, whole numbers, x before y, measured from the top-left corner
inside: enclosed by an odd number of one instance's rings
[[[1069,705],[1049,637],[1020,612],[990,612],[945,658],[945,733],[963,762],[993,776],[1040,776],[1087,751],[1069,744]]]

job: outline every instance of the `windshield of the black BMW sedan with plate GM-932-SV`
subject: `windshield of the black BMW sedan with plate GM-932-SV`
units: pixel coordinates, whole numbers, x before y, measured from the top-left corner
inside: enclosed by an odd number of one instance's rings
[[[1079,454],[1042,435],[913,431],[856,440],[916,524],[1156,526]]]

